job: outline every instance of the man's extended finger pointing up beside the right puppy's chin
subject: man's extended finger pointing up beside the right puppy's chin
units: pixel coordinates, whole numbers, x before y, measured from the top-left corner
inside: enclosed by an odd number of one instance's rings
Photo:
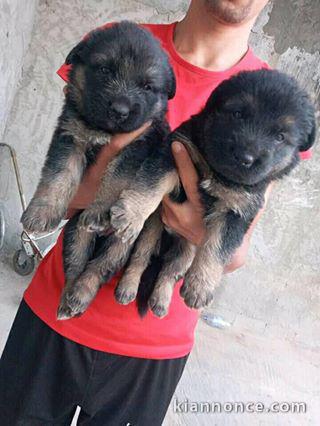
[[[172,153],[188,200],[192,203],[199,203],[199,177],[187,149],[182,143],[173,142]]]

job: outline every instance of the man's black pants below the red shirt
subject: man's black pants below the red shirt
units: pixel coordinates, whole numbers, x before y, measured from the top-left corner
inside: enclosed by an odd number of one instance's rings
[[[0,425],[161,425],[187,356],[151,360],[68,340],[22,301],[0,362]]]

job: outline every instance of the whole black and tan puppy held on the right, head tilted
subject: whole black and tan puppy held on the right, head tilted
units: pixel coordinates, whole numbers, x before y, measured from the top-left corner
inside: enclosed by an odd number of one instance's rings
[[[242,72],[223,82],[203,111],[170,135],[171,141],[187,146],[198,169],[207,238],[196,247],[173,236],[149,299],[156,315],[167,314],[180,277],[184,277],[181,295],[189,307],[201,308],[212,301],[224,266],[263,205],[268,184],[298,164],[299,152],[312,146],[315,133],[314,108],[307,94],[285,74],[262,70]],[[163,144],[112,207],[116,234],[124,240],[137,235],[158,200],[178,190],[170,146]],[[120,303],[136,297],[162,232],[156,211],[147,220],[116,289]]]

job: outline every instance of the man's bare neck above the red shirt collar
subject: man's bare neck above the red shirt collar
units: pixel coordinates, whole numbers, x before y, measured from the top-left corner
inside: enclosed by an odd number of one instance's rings
[[[253,24],[254,20],[226,25],[191,7],[177,24],[173,41],[179,55],[191,64],[210,71],[225,71],[246,54]]]

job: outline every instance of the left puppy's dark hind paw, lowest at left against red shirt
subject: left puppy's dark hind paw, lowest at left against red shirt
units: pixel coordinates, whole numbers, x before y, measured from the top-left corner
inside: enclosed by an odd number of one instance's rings
[[[66,320],[84,313],[92,301],[92,294],[86,288],[74,285],[63,292],[58,307],[57,319]]]

